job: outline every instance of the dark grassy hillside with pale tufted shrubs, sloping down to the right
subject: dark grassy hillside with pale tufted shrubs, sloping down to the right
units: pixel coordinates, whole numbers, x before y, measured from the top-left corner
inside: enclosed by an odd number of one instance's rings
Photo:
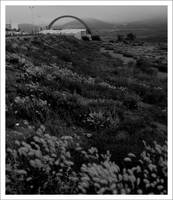
[[[6,40],[7,193],[167,193],[167,80],[101,45]]]

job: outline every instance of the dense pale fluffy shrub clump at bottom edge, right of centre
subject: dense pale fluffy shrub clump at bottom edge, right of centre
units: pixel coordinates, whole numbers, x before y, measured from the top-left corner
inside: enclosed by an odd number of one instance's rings
[[[109,152],[105,160],[97,163],[83,164],[81,167],[79,191],[84,194],[117,194],[117,188],[122,189],[119,184],[120,168],[110,161]]]

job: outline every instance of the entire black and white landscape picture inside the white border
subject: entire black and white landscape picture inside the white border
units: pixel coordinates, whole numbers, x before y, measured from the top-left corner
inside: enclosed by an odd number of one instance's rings
[[[168,6],[4,21],[5,195],[168,195]]]

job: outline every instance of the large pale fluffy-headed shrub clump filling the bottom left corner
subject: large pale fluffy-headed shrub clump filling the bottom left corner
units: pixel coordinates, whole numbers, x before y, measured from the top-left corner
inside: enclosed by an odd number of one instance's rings
[[[16,149],[7,148],[7,193],[68,192],[74,164],[67,150],[70,140],[46,134],[44,126],[26,142],[16,140]]]

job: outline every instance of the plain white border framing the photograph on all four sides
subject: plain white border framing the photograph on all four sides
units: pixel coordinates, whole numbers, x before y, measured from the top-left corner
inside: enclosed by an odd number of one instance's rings
[[[167,195],[6,195],[5,194],[5,9],[6,6],[167,6],[168,15],[168,194]],[[172,200],[172,1],[1,1],[1,199]]]

